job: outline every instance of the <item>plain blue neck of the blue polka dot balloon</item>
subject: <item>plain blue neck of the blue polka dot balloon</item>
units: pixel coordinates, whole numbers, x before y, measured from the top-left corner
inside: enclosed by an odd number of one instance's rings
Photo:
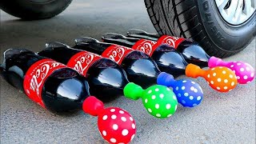
[[[158,85],[173,87],[175,82],[176,81],[174,80],[174,76],[171,74],[162,72],[158,75],[158,79],[157,79]]]

